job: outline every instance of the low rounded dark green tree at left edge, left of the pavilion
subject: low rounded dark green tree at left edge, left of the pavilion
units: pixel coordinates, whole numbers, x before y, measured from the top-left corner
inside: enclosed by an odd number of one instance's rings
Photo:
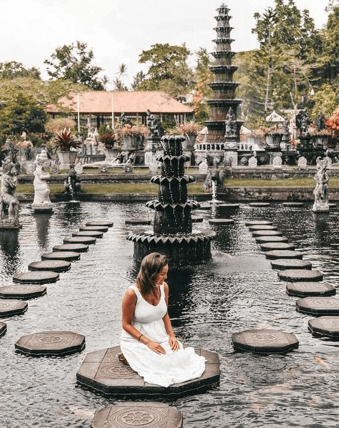
[[[0,110],[0,133],[43,132],[46,121],[43,107],[20,93]]]

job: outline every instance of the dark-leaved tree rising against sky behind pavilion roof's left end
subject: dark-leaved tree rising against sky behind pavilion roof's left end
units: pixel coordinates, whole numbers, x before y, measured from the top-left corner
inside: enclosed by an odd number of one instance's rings
[[[87,43],[77,41],[58,47],[51,59],[45,59],[44,63],[49,66],[47,73],[51,78],[71,80],[101,91],[103,84],[97,76],[102,69],[92,65],[93,58],[93,51],[87,49]]]

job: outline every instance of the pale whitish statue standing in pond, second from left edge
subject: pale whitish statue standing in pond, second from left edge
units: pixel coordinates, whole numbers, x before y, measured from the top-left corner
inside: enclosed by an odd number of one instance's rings
[[[44,172],[43,164],[43,158],[40,155],[37,155],[33,181],[34,200],[32,203],[32,209],[35,211],[51,211],[53,207],[53,204],[49,199],[50,190],[47,184],[50,174]]]

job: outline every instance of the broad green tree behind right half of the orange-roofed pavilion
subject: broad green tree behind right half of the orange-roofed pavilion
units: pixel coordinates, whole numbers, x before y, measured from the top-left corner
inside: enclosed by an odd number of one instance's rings
[[[146,78],[138,90],[164,91],[173,97],[189,93],[193,87],[193,72],[187,64],[191,52],[181,46],[156,43],[142,51],[140,63],[150,63]]]

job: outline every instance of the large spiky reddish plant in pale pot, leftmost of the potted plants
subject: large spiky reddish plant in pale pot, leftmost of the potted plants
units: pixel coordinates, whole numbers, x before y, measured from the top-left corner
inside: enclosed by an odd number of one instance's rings
[[[65,169],[69,169],[70,164],[75,163],[78,151],[80,149],[80,142],[76,135],[70,129],[64,128],[62,131],[52,138],[53,153],[60,156],[60,163]]]

